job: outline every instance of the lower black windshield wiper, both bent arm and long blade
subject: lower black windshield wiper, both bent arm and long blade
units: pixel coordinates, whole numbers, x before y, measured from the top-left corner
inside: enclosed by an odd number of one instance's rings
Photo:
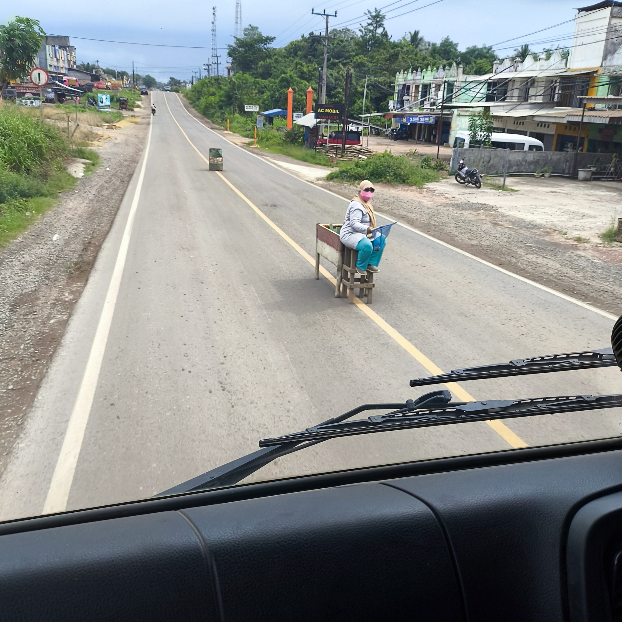
[[[259,449],[242,458],[203,473],[156,496],[231,486],[276,458],[328,439],[432,425],[458,424],[509,417],[529,417],[555,412],[590,411],[622,406],[622,395],[532,397],[518,400],[452,402],[449,391],[432,391],[402,404],[363,404],[302,432],[259,441]],[[345,422],[364,411],[391,411],[368,419]],[[345,423],[344,423],[345,422]]]

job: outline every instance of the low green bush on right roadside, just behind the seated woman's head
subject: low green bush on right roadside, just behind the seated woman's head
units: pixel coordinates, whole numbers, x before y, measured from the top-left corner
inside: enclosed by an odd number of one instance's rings
[[[373,183],[404,183],[422,187],[425,183],[438,181],[439,175],[434,170],[422,169],[406,156],[393,156],[385,151],[369,156],[366,160],[345,164],[328,174],[327,179],[352,183],[369,179]]]

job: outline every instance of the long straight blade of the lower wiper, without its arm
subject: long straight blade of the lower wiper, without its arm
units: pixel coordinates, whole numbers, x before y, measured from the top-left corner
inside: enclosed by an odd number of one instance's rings
[[[373,434],[392,430],[430,427],[434,425],[460,424],[491,419],[531,417],[557,412],[592,411],[622,406],[622,395],[579,395],[559,397],[530,397],[529,399],[487,400],[480,402],[457,402],[445,407],[405,408],[384,415],[372,415],[346,423],[327,423],[307,428],[302,432],[287,434],[276,439],[259,441],[259,447],[271,447],[281,443],[327,440],[358,434]]]

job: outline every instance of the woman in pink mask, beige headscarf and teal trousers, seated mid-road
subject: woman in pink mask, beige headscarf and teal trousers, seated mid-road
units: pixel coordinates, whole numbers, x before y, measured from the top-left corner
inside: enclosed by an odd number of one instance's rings
[[[383,256],[386,239],[383,235],[374,238],[372,230],[376,228],[376,216],[371,198],[374,195],[374,187],[369,180],[359,184],[360,190],[354,197],[341,226],[339,238],[348,248],[358,251],[356,272],[379,272],[378,264]]]

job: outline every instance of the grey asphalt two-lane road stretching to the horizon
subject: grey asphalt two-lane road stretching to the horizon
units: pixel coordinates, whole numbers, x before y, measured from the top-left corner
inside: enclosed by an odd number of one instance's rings
[[[0,518],[151,496],[259,439],[417,396],[425,389],[409,379],[434,365],[609,345],[608,314],[406,226],[392,229],[373,304],[335,299],[305,254],[315,223],[341,221],[345,200],[231,145],[174,93],[154,100],[146,151],[0,481]],[[223,149],[222,175],[207,170],[210,147]],[[601,394],[619,391],[619,374],[454,389],[476,399]],[[249,481],[620,427],[620,412],[602,411],[350,437],[280,458]]]

